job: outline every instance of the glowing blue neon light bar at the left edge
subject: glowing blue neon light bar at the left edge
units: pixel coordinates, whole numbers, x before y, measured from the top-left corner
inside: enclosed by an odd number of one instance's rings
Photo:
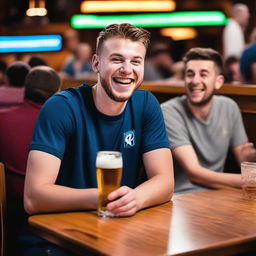
[[[0,36],[0,53],[59,51],[61,35]]]

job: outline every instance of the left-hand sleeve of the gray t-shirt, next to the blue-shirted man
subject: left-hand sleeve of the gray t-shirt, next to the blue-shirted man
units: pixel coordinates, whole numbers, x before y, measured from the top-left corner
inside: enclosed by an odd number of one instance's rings
[[[171,148],[191,145],[184,119],[184,110],[180,107],[177,100],[165,102],[161,105],[161,108]]]

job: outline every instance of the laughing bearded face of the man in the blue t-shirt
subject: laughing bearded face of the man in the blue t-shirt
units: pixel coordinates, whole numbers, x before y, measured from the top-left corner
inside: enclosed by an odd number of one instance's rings
[[[99,55],[93,57],[93,69],[109,98],[124,102],[140,86],[145,54],[141,41],[113,37],[103,43]]]

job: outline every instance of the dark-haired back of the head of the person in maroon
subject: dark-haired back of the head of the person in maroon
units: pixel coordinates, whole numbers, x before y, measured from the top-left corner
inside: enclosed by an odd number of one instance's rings
[[[48,66],[36,66],[30,70],[25,80],[25,99],[44,103],[61,86],[58,73]]]

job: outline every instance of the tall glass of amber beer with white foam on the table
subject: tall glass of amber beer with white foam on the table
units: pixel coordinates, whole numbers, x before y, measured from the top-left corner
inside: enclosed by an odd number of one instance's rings
[[[117,151],[99,151],[96,158],[96,174],[99,191],[98,215],[114,217],[107,211],[109,193],[120,187],[122,178],[122,153]]]

